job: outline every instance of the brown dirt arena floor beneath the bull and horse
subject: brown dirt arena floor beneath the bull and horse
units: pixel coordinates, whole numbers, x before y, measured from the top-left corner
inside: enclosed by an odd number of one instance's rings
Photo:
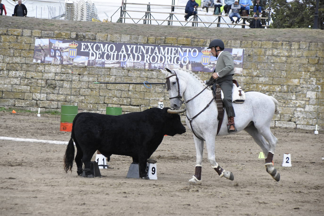
[[[60,116],[0,112],[0,136],[68,141]],[[260,148],[246,132],[216,138],[216,161],[234,174],[219,178],[204,150],[202,185],[194,174],[192,133],[166,136],[151,158],[157,180],[126,178],[132,159],[112,155],[102,177],[63,170],[65,145],[0,140],[1,215],[324,215],[322,131],[272,129],[279,139],[276,182],[266,173]],[[282,167],[290,153],[292,167]],[[93,157],[93,161],[95,160]]]

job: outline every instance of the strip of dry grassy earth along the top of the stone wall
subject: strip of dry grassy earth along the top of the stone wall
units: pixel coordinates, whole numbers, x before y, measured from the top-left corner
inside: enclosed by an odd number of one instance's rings
[[[38,29],[44,31],[69,31],[143,35],[148,37],[177,37],[192,39],[256,40],[324,43],[323,30],[309,28],[249,29],[206,28],[192,26],[161,26],[131,23],[99,23],[69,20],[40,19],[33,17],[0,17],[1,28]],[[78,40],[78,39],[77,39]]]

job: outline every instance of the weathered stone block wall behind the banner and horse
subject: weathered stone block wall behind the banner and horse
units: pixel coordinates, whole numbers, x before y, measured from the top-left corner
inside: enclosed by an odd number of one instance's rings
[[[160,71],[33,63],[35,38],[187,46],[206,46],[210,42],[0,28],[0,107],[38,110],[41,106],[44,111],[71,104],[82,111],[105,113],[107,106],[122,107],[123,112],[142,111],[156,107],[159,99],[164,100],[165,106],[169,105],[168,94],[161,93],[158,85],[149,89],[144,85],[93,84],[98,81],[163,83],[164,75]],[[228,48],[245,49],[243,74],[235,77],[242,88],[272,95],[279,101],[281,114],[274,117],[272,126],[314,130],[317,118],[318,125],[324,126],[323,43],[252,39],[224,42]],[[198,74],[202,79],[210,76]]]

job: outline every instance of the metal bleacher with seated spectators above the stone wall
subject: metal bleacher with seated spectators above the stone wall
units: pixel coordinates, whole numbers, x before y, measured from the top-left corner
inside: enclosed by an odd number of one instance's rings
[[[120,17],[118,22],[128,22],[132,20],[133,23],[143,24],[155,24],[155,25],[177,25],[177,26],[201,26],[201,27],[228,27],[233,28],[235,26],[249,26],[249,22],[253,17],[241,16],[239,23],[233,23],[229,21],[228,16],[225,15],[213,15],[213,14],[201,14],[198,13],[191,16],[188,21],[184,20],[185,6],[178,6],[174,4],[175,0],[172,0],[172,5],[157,5],[157,4],[143,4],[143,3],[127,3],[126,0],[122,2],[120,8]],[[271,0],[264,1],[267,9],[262,10],[262,17],[259,17],[262,27],[269,27],[270,12],[271,12]],[[146,8],[145,8],[146,7]],[[200,9],[201,7],[196,8]],[[211,12],[214,11],[214,7],[210,7]],[[224,12],[222,13],[224,14]],[[156,17],[163,17],[165,19]],[[250,9],[250,16],[253,15],[253,9]],[[226,18],[227,17],[227,18]]]

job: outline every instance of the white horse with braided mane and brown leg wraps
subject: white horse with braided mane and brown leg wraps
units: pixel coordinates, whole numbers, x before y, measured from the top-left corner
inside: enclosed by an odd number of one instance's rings
[[[201,168],[203,161],[203,141],[206,141],[208,161],[220,177],[234,180],[231,172],[223,170],[215,161],[215,137],[217,134],[217,106],[213,101],[212,90],[207,87],[197,75],[190,71],[165,68],[162,72],[167,76],[170,106],[174,111],[187,110],[186,123],[193,132],[196,147],[195,175],[189,180],[191,184],[201,184]],[[207,87],[205,90],[203,90]],[[235,126],[237,131],[247,131],[254,141],[261,147],[267,158],[265,159],[266,171],[276,181],[280,175],[272,164],[272,158],[278,139],[270,131],[271,120],[274,114],[279,114],[278,101],[260,92],[246,92],[244,103],[233,103],[235,110]],[[195,97],[196,96],[196,97]],[[183,98],[183,101],[181,100]],[[190,100],[190,101],[188,101]],[[210,106],[208,102],[212,101]],[[186,109],[179,110],[185,103]],[[201,112],[205,109],[203,112]],[[198,116],[197,114],[201,112]],[[191,124],[190,124],[191,121]],[[217,136],[229,135],[227,131],[227,114],[224,110],[224,121]]]

